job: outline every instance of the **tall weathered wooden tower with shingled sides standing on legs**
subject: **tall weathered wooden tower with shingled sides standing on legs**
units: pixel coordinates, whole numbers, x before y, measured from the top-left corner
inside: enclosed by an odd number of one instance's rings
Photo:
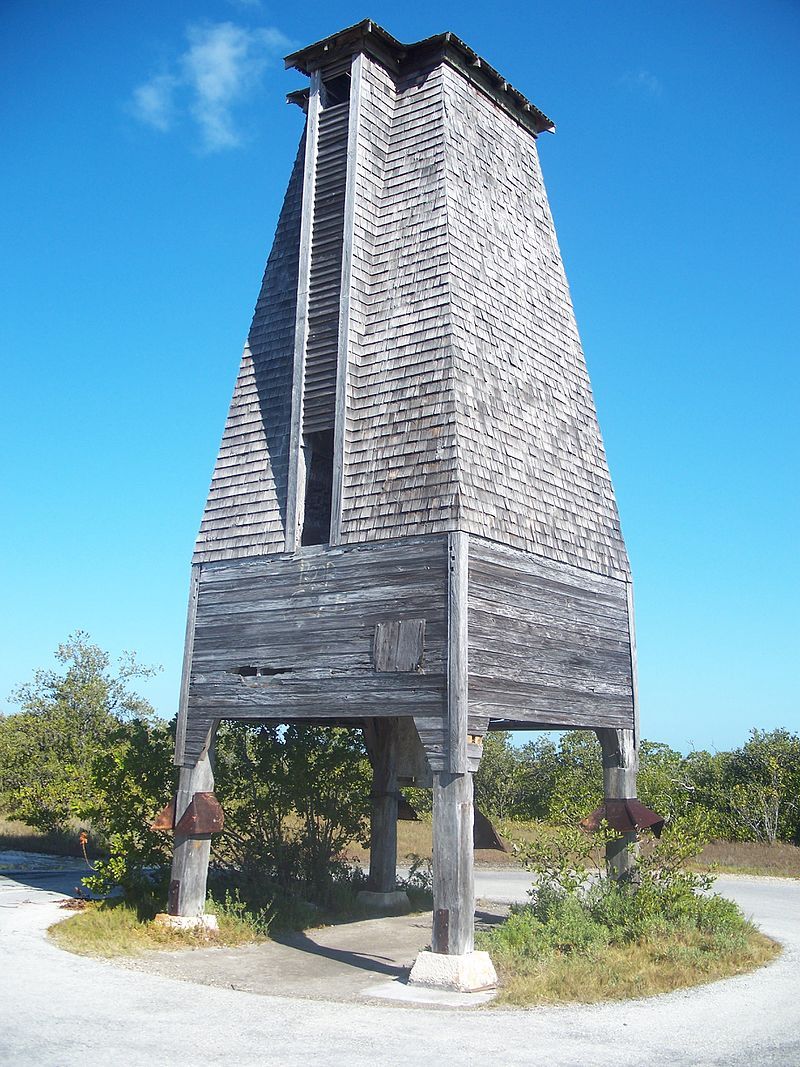
[[[487,730],[589,728],[636,795],[630,572],[537,138],[450,33],[364,21],[288,57],[306,115],[193,567],[180,819],[221,719],[359,726],[371,889],[398,782],[433,789],[432,953],[478,988],[473,774]],[[170,911],[203,914],[176,832]]]

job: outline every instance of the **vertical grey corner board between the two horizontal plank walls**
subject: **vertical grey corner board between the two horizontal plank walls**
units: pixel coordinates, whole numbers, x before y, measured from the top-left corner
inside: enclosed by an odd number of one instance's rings
[[[447,584],[447,718],[450,770],[467,770],[469,538],[451,534],[448,539]]]

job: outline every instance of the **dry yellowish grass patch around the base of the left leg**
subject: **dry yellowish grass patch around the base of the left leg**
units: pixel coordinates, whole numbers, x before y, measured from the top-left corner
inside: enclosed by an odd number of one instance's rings
[[[171,930],[142,919],[125,904],[89,904],[69,919],[54,923],[48,930],[61,949],[80,956],[141,956],[165,949],[207,949],[211,945],[236,946],[263,940],[263,935],[233,915],[219,914],[220,929]]]

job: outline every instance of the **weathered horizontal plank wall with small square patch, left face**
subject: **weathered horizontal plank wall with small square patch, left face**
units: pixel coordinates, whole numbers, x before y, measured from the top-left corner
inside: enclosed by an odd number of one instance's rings
[[[318,721],[419,716],[444,758],[447,676],[444,538],[320,546],[207,566],[194,630],[187,760],[214,718]],[[410,623],[421,667],[375,670],[375,627]],[[398,631],[399,636],[399,631]],[[416,640],[417,638],[415,638]],[[405,643],[395,654],[409,654]]]

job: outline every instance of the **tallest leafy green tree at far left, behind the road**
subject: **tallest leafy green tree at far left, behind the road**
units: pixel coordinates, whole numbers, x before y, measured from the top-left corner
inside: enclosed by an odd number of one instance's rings
[[[158,669],[124,653],[115,669],[82,631],[55,651],[62,665],[37,670],[12,695],[21,711],[0,720],[0,802],[36,829],[63,829],[97,800],[92,761],[122,722],[153,719],[151,705],[129,688]]]

